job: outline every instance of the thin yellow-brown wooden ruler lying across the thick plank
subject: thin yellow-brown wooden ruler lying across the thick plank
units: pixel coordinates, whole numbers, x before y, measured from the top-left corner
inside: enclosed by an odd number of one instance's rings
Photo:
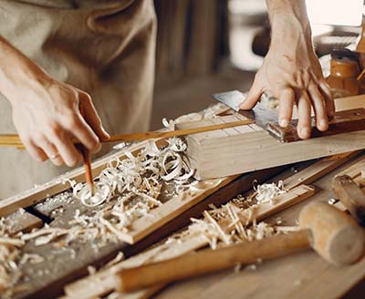
[[[113,135],[110,137],[110,139],[102,139],[101,142],[118,142],[118,141],[130,142],[130,141],[141,141],[147,139],[167,139],[172,137],[213,131],[216,129],[228,129],[238,126],[245,126],[253,123],[254,122],[251,119],[244,119],[244,120],[234,121],[231,123],[217,124],[193,129],[177,129],[173,131],[151,131],[151,132],[141,132],[141,133],[131,133],[131,134],[120,134],[120,135]],[[74,142],[78,143],[78,140],[74,140]],[[13,146],[16,148],[24,147],[21,139],[16,134],[0,135],[0,146],[5,146],[5,147]]]

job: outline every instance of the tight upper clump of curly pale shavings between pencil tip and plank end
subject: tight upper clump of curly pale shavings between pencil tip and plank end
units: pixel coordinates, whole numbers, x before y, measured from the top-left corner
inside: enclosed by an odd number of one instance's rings
[[[91,195],[85,183],[73,184],[74,196],[88,207],[98,206],[119,196],[121,211],[126,202],[134,198],[142,202],[144,208],[161,205],[157,198],[162,189],[162,181],[173,180],[176,193],[184,191],[184,184],[193,176],[183,152],[186,144],[182,139],[168,139],[168,145],[158,149],[154,142],[141,149],[137,156],[125,150],[127,159],[110,161],[107,168],[95,179],[96,193]],[[143,209],[141,207],[141,209]]]

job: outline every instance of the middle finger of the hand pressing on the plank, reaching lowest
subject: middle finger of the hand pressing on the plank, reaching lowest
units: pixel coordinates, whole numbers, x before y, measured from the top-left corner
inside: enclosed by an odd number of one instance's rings
[[[310,138],[311,119],[310,119],[311,103],[306,91],[304,91],[297,101],[297,135],[300,139]]]

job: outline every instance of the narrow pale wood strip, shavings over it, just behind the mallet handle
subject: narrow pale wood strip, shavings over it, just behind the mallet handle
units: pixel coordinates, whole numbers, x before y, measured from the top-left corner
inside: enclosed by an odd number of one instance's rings
[[[257,221],[263,220],[268,216],[273,215],[277,211],[282,211],[287,207],[296,204],[299,201],[304,201],[314,194],[314,189],[306,185],[301,185],[288,191],[285,194],[279,195],[273,203],[262,203],[255,208],[255,219]],[[247,213],[238,212],[238,216],[241,221],[247,221]],[[254,218],[248,219],[248,222],[253,222]],[[226,227],[231,223],[231,220],[221,221],[219,225]],[[126,268],[132,268],[144,263],[160,262],[173,257],[180,256],[184,253],[190,253],[199,248],[203,248],[209,244],[209,239],[205,237],[203,233],[194,234],[188,239],[183,239],[180,242],[172,242],[170,244],[162,244],[158,247],[154,247],[151,250],[141,253],[130,259],[113,265],[110,269],[101,271],[99,273],[90,275],[86,278],[82,278],[77,282],[68,284],[65,287],[65,293],[69,297],[83,297],[91,298],[103,294],[108,294],[115,290],[116,283],[112,273]],[[98,285],[98,287],[90,287],[91,285]],[[153,287],[154,288],[154,287]],[[123,298],[145,298],[146,294],[153,294],[162,288],[162,285],[156,286],[156,289],[145,289],[132,294],[122,294]],[[130,297],[131,296],[131,297]]]

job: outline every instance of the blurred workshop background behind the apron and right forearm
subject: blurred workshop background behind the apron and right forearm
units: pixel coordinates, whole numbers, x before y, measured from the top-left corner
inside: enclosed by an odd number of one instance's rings
[[[270,44],[265,0],[155,0],[156,85],[151,129],[206,108],[210,95],[246,91]],[[307,0],[325,75],[333,48],[356,45],[363,0]]]

